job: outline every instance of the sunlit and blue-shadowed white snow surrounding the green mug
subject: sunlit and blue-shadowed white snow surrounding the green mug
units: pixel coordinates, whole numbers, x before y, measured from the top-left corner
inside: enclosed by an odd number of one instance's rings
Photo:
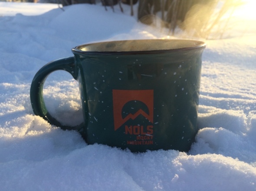
[[[33,76],[76,45],[177,38],[123,8],[0,2],[0,190],[256,190],[256,16],[236,17],[229,38],[204,40],[200,131],[188,153],[87,145],[33,114]],[[78,83],[68,73],[49,75],[44,99],[63,124],[82,121]]]

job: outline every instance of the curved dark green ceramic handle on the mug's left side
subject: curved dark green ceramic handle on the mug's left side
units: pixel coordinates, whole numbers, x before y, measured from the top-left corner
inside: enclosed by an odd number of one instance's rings
[[[30,87],[30,102],[32,105],[33,112],[35,115],[39,115],[40,117],[44,118],[50,124],[53,124],[57,127],[61,127],[62,129],[79,130],[83,124],[80,124],[75,127],[64,126],[55,118],[53,118],[53,116],[51,116],[47,111],[43,99],[43,84],[47,76],[56,70],[65,70],[69,72],[75,80],[77,80],[74,56],[54,60],[44,65],[34,76]]]

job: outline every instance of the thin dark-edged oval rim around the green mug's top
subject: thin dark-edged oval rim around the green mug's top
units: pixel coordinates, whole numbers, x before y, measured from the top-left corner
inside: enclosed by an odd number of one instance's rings
[[[155,50],[136,50],[136,51],[86,51],[81,50],[82,47],[90,46],[90,45],[100,45],[106,43],[125,43],[125,42],[132,42],[132,41],[181,41],[181,42],[194,42],[195,45],[181,47],[181,48],[165,48],[165,49],[155,49]],[[129,54],[161,54],[161,53],[169,53],[169,52],[180,52],[180,51],[187,51],[193,50],[198,48],[205,48],[206,43],[203,41],[192,40],[192,39],[134,39],[134,40],[120,40],[120,41],[99,41],[89,44],[83,44],[72,48],[72,52],[74,54],[99,54],[99,55],[129,55]]]

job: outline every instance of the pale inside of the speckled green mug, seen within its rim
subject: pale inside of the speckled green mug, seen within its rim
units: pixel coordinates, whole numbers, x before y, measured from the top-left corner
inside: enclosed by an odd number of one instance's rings
[[[181,51],[187,49],[200,48],[205,46],[202,41],[176,40],[176,39],[150,39],[150,40],[126,40],[126,41],[106,41],[86,45],[79,45],[72,49],[75,52],[148,52],[148,51]]]

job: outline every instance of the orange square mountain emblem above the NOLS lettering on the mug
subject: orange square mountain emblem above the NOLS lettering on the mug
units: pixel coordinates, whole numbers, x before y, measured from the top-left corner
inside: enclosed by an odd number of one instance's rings
[[[153,90],[113,89],[113,111],[115,131],[129,119],[143,115],[153,123]]]

